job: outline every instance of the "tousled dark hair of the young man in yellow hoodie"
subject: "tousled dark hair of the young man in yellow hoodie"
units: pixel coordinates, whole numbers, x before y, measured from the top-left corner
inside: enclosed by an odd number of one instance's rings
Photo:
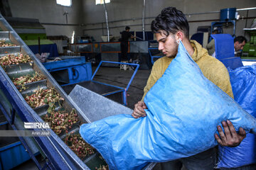
[[[189,26],[186,16],[175,7],[164,8],[159,16],[151,23],[151,30],[153,33],[160,33],[159,30],[164,30],[166,36],[169,33],[177,33],[182,30],[189,39]]]

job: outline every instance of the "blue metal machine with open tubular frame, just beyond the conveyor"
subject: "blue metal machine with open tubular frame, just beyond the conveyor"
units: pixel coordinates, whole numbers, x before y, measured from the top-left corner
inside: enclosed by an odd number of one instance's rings
[[[133,68],[132,78],[129,80],[126,88],[93,80],[100,66],[106,63],[116,64],[117,66],[126,64],[128,67]],[[79,84],[91,91],[95,91],[97,94],[122,103],[124,106],[127,106],[127,91],[129,86],[139,69],[139,64],[101,61],[92,76],[92,64],[85,62],[85,57],[83,56],[62,56],[60,61],[43,62],[42,64],[67,94],[70,94],[75,85]]]

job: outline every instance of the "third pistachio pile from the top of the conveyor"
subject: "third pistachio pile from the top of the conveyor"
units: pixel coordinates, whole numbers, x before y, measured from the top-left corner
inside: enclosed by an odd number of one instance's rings
[[[21,76],[18,78],[14,78],[12,79],[13,83],[15,86],[21,86],[21,88],[19,89],[21,90],[26,90],[25,84],[31,83],[31,82],[35,82],[35,81],[40,81],[45,79],[45,77],[43,77],[41,74],[38,74],[38,72],[36,72],[35,74],[27,74],[26,76]]]

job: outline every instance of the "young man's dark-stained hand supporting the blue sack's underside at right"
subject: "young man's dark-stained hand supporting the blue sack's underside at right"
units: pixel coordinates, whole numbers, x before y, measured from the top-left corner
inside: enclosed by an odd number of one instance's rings
[[[246,137],[245,130],[242,128],[239,128],[239,133],[235,131],[235,128],[233,124],[230,122],[230,120],[227,120],[227,122],[222,122],[224,132],[220,125],[218,125],[217,129],[220,134],[220,137],[215,134],[215,139],[218,141],[218,143],[224,147],[237,147],[240,145],[240,142],[242,142],[243,139]]]

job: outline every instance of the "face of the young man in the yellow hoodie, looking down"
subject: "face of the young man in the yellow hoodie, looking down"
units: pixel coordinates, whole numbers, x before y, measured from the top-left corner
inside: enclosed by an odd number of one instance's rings
[[[159,51],[163,52],[166,57],[175,57],[178,53],[178,43],[175,36],[169,33],[166,37],[164,33],[156,33],[156,40],[159,42]]]

